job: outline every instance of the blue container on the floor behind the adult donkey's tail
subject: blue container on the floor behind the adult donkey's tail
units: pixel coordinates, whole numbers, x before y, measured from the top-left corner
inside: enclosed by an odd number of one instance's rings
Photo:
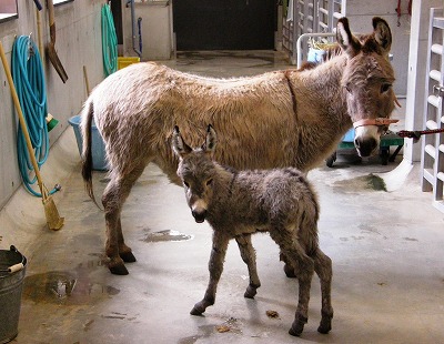
[[[80,115],[74,115],[68,120],[74,130],[77,145],[79,146],[79,153],[82,154],[83,144],[82,144],[82,133],[80,132]],[[104,154],[104,143],[103,139],[99,133],[95,124],[91,125],[91,136],[92,136],[92,169],[97,171],[107,171],[108,163]]]

